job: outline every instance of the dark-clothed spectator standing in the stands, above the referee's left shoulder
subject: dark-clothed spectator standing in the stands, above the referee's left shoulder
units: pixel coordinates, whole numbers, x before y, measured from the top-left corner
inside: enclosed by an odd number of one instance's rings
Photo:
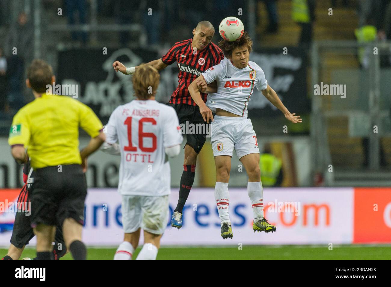
[[[25,105],[24,63],[32,59],[33,32],[32,25],[27,21],[27,14],[21,12],[18,15],[18,22],[11,27],[6,40],[6,51],[11,55],[7,61],[7,72],[8,100],[12,111],[18,111]]]

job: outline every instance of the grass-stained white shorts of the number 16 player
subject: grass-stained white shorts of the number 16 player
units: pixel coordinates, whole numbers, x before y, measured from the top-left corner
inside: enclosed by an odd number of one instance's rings
[[[163,234],[169,215],[169,196],[122,196],[122,227],[125,233],[142,228]]]

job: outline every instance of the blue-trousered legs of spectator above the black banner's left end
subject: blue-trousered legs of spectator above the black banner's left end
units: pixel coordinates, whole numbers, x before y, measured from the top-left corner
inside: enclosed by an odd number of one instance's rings
[[[79,24],[86,23],[86,1],[85,0],[65,0],[65,9],[68,16],[68,24],[75,25],[75,12],[78,11],[79,15]],[[72,40],[79,41],[81,40],[83,44],[86,44],[87,32],[72,32]]]

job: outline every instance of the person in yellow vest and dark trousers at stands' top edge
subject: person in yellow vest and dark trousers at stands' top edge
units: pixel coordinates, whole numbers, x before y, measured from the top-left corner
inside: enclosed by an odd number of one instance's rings
[[[301,26],[299,43],[309,48],[315,22],[315,0],[292,0],[293,21]]]

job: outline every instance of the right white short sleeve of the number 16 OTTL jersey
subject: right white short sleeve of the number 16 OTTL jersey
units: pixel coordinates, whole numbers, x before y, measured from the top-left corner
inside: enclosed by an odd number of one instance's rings
[[[166,148],[180,145],[183,142],[183,136],[181,135],[178,116],[171,107],[167,109],[166,115],[164,121],[163,146]]]

